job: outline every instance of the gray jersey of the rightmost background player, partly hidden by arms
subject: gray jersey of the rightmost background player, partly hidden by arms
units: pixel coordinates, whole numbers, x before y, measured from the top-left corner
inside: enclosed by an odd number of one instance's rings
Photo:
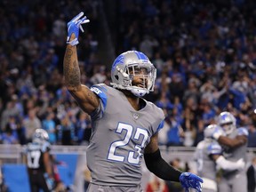
[[[237,128],[234,132],[232,132],[230,135],[228,135],[229,138],[234,139],[237,135],[245,135],[248,136],[248,131],[244,128]],[[223,156],[227,160],[230,160],[232,162],[235,162],[239,160],[240,158],[244,159],[244,162],[246,162],[246,152],[247,152],[247,143],[245,143],[243,146],[237,147],[237,148],[228,148],[227,146],[222,146],[224,148]],[[245,172],[244,170],[241,171],[223,171],[223,176],[229,177],[229,176],[235,176],[239,172]]]

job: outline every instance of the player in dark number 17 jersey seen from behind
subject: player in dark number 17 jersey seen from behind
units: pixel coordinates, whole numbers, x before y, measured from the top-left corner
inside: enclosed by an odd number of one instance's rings
[[[28,166],[28,177],[31,192],[52,191],[53,175],[52,163],[50,160],[49,136],[44,129],[36,129],[33,134],[32,142],[25,148],[26,164]]]

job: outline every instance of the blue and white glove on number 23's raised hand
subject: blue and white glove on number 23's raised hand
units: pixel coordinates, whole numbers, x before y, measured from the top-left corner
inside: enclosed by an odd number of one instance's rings
[[[82,32],[84,32],[84,29],[82,28],[82,24],[90,22],[90,20],[87,20],[86,16],[80,19],[83,15],[84,15],[84,12],[80,12],[78,15],[76,15],[75,18],[73,18],[68,22],[67,44],[71,44],[72,46],[79,44],[78,42],[79,28],[81,29]],[[69,39],[72,34],[75,34],[75,39],[69,42]]]

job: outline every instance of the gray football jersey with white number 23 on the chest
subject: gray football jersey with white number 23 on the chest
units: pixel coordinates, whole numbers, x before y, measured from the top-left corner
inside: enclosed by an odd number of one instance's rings
[[[136,111],[120,92],[106,84],[93,85],[100,107],[91,114],[92,137],[87,165],[92,183],[108,186],[140,185],[141,159],[150,137],[164,123],[164,112],[155,104]]]

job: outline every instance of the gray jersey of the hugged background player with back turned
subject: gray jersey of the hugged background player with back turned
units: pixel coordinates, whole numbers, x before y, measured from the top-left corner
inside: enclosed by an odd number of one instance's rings
[[[221,147],[218,142],[202,140],[197,144],[194,158],[196,159],[198,176],[215,180],[216,163],[210,158],[210,155],[217,154],[221,155]]]

